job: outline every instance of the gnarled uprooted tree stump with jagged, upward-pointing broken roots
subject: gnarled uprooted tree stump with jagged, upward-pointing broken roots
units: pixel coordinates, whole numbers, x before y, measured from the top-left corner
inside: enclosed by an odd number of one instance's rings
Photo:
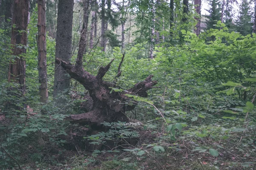
[[[84,11],[86,13],[86,5],[84,5]],[[86,18],[86,14],[84,14]],[[84,19],[86,20],[86,19]],[[88,103],[92,104],[91,107],[87,107],[88,112],[78,115],[70,115],[67,117],[72,122],[87,124],[91,126],[100,126],[102,122],[124,121],[128,122],[128,117],[125,115],[126,111],[130,111],[135,108],[136,102],[130,102],[130,98],[125,94],[132,94],[138,96],[147,96],[149,89],[153,88],[157,84],[157,81],[152,81],[153,75],[148,76],[143,82],[139,82],[126,91],[115,92],[111,88],[116,88],[116,84],[113,82],[103,81],[103,77],[107,73],[111,66],[111,62],[105,67],[100,67],[96,76],[89,74],[84,70],[82,65],[83,52],[86,48],[84,41],[86,40],[86,31],[82,31],[79,42],[79,52],[76,59],[76,64],[72,65],[70,62],[66,62],[62,59],[55,58],[57,65],[61,65],[70,77],[76,79],[84,88],[89,92]],[[125,57],[123,54],[122,60],[118,67],[118,73],[116,77],[121,75],[121,65]]]

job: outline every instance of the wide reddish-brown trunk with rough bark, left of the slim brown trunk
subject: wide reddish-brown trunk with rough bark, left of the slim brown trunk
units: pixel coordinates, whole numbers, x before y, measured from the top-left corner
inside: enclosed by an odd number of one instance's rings
[[[20,84],[20,91],[25,94],[25,75],[26,75],[26,62],[23,54],[26,53],[27,42],[27,26],[29,20],[29,0],[14,0],[13,1],[12,25],[12,55],[17,56],[15,62],[10,61],[8,81],[13,80]],[[19,47],[17,47],[19,46]],[[20,46],[22,46],[20,48]]]

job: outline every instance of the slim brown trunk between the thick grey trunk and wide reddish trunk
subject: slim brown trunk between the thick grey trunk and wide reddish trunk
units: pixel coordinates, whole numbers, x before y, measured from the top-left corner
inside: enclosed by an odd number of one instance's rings
[[[38,0],[38,81],[40,102],[46,103],[48,99],[47,89],[47,58],[46,58],[46,3]]]

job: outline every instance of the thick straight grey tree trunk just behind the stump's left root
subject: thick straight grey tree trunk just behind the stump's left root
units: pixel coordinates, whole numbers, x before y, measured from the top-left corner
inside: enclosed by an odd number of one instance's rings
[[[55,58],[65,62],[68,62],[71,58],[73,6],[73,0],[59,0],[58,2]],[[55,64],[53,97],[63,93],[68,88],[70,88],[70,78],[67,72],[58,64]],[[55,101],[64,102],[62,99],[55,99]]]

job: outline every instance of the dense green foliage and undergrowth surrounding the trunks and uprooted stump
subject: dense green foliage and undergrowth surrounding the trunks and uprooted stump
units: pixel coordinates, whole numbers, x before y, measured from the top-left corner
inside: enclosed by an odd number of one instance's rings
[[[19,85],[6,76],[10,60],[16,57],[10,44],[11,20],[0,18],[0,169],[255,170],[256,34],[250,3],[242,1],[233,22],[232,2],[227,0],[224,6],[225,1],[211,0],[207,26],[197,36],[193,30],[198,14],[190,2],[189,13],[183,14],[184,4],[175,0],[171,28],[165,1],[124,1],[127,6],[109,2],[107,49],[102,51],[100,36],[94,35],[93,48],[87,46],[84,54],[84,69],[97,75],[100,66],[115,58],[104,77],[116,81],[112,92],[129,89],[150,74],[157,87],[145,98],[127,95],[138,103],[125,113],[130,122],[104,122],[105,131],[73,124],[65,118],[85,112],[83,97],[88,91],[72,79],[67,93],[58,96],[64,103],[52,97],[57,2],[47,3],[47,103],[40,103],[38,95],[37,6],[31,9],[27,30],[26,94],[22,97],[17,95]],[[92,3],[100,9],[100,4]],[[223,6],[226,11],[221,14]],[[82,4],[76,2],[74,11],[72,63],[78,53]],[[125,12],[125,58],[122,75],[116,78],[123,57],[117,18]],[[97,15],[95,23],[100,24],[100,11]],[[221,15],[226,16],[223,22]],[[158,34],[152,34],[152,29]],[[152,44],[154,57],[149,59]]]

